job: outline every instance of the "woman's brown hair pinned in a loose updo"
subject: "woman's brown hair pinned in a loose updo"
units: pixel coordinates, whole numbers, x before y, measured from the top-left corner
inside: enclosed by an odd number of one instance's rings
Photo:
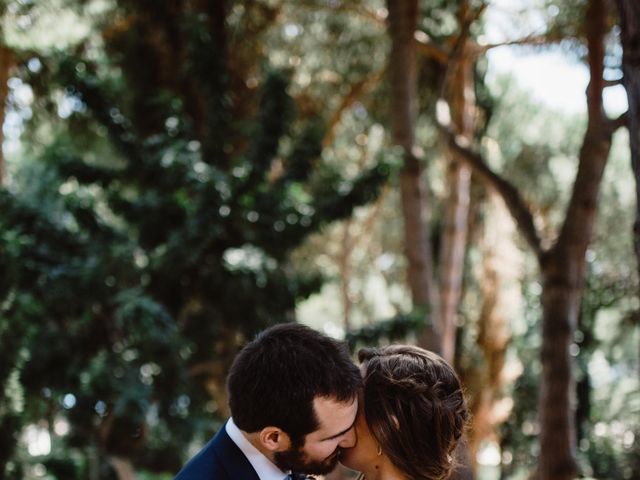
[[[460,380],[433,352],[410,345],[358,353],[364,413],[382,451],[411,479],[442,480],[469,420]]]

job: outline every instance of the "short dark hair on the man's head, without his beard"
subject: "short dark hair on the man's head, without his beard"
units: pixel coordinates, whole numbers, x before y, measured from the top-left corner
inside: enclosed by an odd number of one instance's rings
[[[315,397],[348,402],[361,385],[344,343],[298,323],[258,334],[235,358],[227,379],[231,415],[241,430],[275,426],[293,443],[319,426]]]

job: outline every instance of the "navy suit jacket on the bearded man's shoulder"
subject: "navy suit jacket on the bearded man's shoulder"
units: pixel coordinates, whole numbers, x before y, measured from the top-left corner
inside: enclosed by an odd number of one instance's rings
[[[189,460],[175,480],[260,480],[225,427]]]

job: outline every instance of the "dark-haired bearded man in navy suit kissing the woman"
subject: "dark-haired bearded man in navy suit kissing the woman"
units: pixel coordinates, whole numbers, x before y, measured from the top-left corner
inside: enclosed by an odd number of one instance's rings
[[[359,369],[345,346],[300,324],[260,333],[227,379],[231,418],[175,480],[323,475],[355,444]]]

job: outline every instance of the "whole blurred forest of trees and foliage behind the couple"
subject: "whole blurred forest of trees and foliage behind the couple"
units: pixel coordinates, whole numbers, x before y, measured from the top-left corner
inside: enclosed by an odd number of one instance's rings
[[[292,320],[453,362],[456,478],[640,478],[637,1],[0,15],[0,478],[172,478]]]

